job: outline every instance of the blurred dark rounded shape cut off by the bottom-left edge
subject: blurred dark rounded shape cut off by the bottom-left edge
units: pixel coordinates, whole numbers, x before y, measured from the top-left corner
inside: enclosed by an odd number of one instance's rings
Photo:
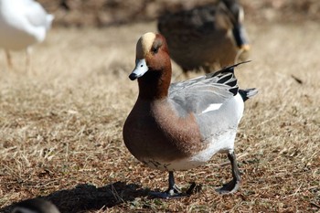
[[[31,198],[15,205],[12,213],[60,213],[50,201],[42,198]]]

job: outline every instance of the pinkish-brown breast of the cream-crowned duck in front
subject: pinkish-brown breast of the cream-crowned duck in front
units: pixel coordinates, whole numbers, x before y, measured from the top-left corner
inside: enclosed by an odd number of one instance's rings
[[[169,165],[203,148],[196,118],[179,117],[167,101],[137,101],[124,123],[123,140],[149,166]]]

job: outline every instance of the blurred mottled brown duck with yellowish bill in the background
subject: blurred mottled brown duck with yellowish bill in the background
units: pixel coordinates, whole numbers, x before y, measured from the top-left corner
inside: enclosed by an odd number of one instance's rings
[[[171,58],[188,75],[191,70],[220,69],[246,60],[251,46],[238,0],[219,0],[158,17]]]

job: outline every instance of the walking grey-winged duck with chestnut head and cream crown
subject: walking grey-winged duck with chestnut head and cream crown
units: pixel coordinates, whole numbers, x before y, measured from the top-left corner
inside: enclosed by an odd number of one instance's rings
[[[239,89],[234,75],[238,65],[171,83],[165,37],[148,32],[138,39],[129,79],[138,81],[139,94],[123,124],[123,142],[144,165],[168,172],[169,187],[156,197],[183,196],[174,172],[205,165],[217,153],[228,155],[233,177],[217,191],[237,191],[240,170],[234,141],[244,101],[258,92]]]

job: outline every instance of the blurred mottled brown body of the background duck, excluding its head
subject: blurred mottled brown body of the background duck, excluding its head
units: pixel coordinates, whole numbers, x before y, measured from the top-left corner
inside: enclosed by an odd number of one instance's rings
[[[231,37],[231,22],[222,4],[167,13],[158,19],[170,56],[185,71],[217,69],[234,63],[238,48]]]

